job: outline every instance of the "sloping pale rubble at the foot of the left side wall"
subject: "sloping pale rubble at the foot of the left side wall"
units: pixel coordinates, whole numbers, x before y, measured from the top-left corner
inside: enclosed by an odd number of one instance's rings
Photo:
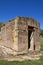
[[[16,55],[16,51],[0,45],[0,56]]]

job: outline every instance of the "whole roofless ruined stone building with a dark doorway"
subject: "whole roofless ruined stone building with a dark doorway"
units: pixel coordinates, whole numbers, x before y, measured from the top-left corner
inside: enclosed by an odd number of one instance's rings
[[[16,54],[39,51],[39,36],[39,22],[28,17],[17,17],[2,26],[0,37],[2,43],[0,45],[12,49]]]

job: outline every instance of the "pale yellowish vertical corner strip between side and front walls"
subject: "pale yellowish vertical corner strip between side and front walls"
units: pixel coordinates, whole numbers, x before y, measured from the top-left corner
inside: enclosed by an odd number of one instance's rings
[[[15,19],[15,25],[14,25],[14,29],[13,29],[13,49],[15,51],[18,51],[18,19]]]

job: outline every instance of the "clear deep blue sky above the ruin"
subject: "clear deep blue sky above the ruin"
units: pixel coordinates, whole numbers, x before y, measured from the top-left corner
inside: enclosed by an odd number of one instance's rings
[[[40,22],[43,29],[43,0],[0,0],[0,21],[28,16]]]

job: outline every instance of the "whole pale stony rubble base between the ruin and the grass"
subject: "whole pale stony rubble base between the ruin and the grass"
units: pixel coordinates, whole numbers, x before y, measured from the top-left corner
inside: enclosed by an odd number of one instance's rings
[[[7,61],[24,61],[24,60],[39,60],[41,53],[31,52],[24,55],[14,55],[14,51],[6,47],[0,46],[2,50],[0,53],[0,60]]]

